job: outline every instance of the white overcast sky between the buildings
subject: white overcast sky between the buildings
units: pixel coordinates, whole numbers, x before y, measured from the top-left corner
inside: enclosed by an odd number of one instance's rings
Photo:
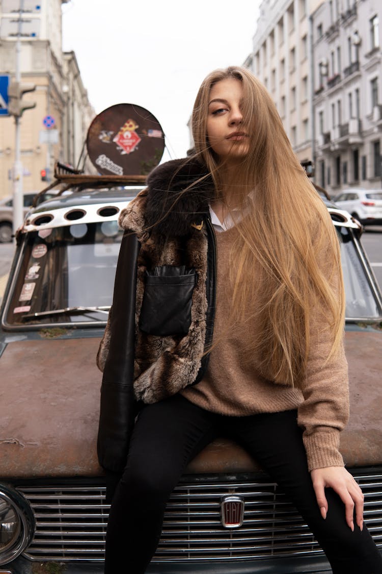
[[[71,0],[62,5],[62,47],[76,52],[96,113],[117,103],[147,108],[166,134],[171,157],[182,157],[199,85],[212,69],[245,61],[258,5],[258,0]]]

